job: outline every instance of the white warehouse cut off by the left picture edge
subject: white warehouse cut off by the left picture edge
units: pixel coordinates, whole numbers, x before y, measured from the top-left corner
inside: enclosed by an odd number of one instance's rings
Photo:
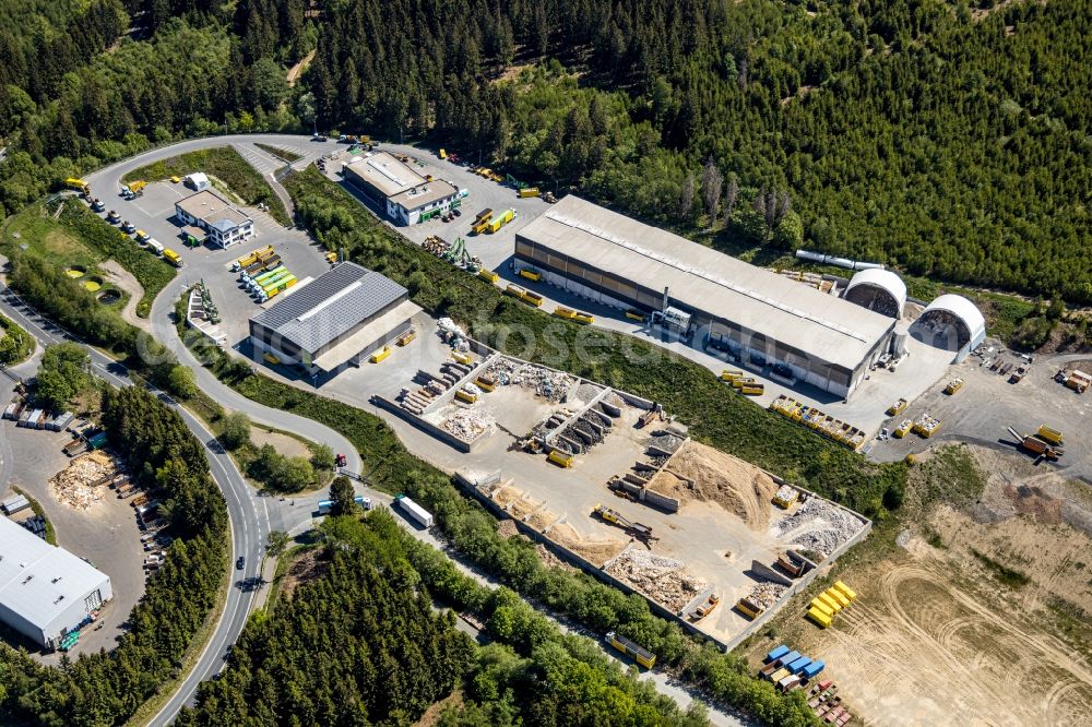
[[[112,597],[108,575],[0,517],[0,620],[13,630],[56,647]]]

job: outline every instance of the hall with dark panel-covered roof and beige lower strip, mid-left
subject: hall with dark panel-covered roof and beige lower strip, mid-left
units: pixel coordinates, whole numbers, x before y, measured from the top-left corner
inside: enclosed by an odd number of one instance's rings
[[[250,341],[283,364],[332,374],[401,336],[419,312],[394,281],[343,262],[251,318]]]

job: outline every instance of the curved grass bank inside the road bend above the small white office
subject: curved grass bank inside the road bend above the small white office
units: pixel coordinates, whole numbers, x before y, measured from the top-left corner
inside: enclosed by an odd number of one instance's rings
[[[187,152],[169,159],[153,162],[133,169],[122,178],[122,181],[130,182],[138,179],[154,181],[170,177],[185,177],[195,171],[203,171],[222,180],[232,192],[238,194],[247,204],[254,205],[264,202],[269,205],[271,217],[285,227],[292,226],[288,212],[284,208],[281,199],[273,192],[273,188],[230,146]]]

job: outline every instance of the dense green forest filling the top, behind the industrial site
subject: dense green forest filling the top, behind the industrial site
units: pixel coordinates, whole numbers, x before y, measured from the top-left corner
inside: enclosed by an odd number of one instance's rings
[[[9,213],[150,144],[314,123],[447,144],[727,249],[1092,301],[1092,0],[92,0],[0,19]]]

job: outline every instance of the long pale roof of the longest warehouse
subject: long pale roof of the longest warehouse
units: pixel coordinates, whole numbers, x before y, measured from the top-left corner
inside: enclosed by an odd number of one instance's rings
[[[520,237],[853,370],[893,320],[568,195]]]

